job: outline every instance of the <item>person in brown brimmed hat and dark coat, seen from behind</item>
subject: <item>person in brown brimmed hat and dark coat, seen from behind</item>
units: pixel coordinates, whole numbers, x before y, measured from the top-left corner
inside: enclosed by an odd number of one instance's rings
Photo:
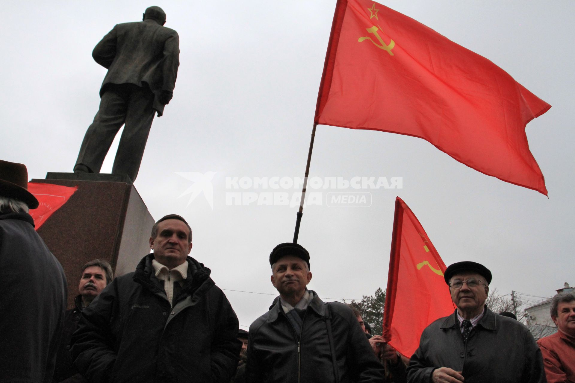
[[[0,381],[51,382],[62,336],[64,270],[34,230],[25,165],[0,160]]]

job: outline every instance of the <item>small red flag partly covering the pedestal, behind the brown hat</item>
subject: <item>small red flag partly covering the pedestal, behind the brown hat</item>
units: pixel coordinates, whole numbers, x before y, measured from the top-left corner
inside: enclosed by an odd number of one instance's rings
[[[29,182],[28,191],[40,202],[37,208],[30,210],[30,215],[34,219],[34,228],[36,230],[40,229],[40,226],[46,222],[49,216],[62,207],[76,190],[78,190],[77,186],[68,187]]]

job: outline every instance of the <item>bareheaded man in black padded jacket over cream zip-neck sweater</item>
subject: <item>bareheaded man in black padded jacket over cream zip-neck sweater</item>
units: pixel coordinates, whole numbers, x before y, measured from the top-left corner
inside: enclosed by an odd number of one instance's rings
[[[164,216],[152,228],[154,252],[82,311],[72,356],[89,381],[229,382],[237,317],[210,269],[187,256],[191,246],[187,222]]]

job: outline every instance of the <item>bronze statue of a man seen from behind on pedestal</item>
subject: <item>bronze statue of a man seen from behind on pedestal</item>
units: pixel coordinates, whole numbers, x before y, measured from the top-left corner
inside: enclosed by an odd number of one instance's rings
[[[162,115],[178,74],[178,33],[163,26],[165,23],[162,8],[148,7],[143,21],[117,24],[94,48],[92,57],[108,73],[74,173],[99,173],[114,137],[125,124],[112,173],[136,179],[154,112]]]

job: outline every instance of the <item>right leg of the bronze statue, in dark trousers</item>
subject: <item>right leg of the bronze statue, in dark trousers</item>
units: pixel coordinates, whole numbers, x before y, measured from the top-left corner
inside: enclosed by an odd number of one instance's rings
[[[136,180],[145,143],[154,119],[154,94],[147,88],[133,87],[128,95],[128,110],[124,131],[114,159],[112,174],[127,174]]]

